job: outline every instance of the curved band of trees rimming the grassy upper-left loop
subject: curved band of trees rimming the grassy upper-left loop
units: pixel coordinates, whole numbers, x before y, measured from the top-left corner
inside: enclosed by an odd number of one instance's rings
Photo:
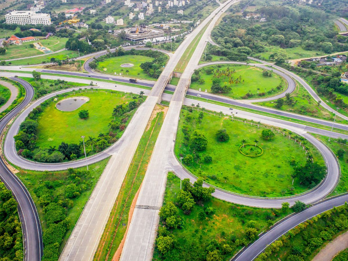
[[[89,63],[90,68],[97,68],[97,63],[102,62],[109,57],[117,57],[122,55],[142,55],[153,58],[151,62],[144,62],[140,64],[140,68],[144,70],[148,76],[153,78],[158,78],[163,70],[163,66],[166,65],[168,61],[168,56],[162,52],[153,51],[153,50],[136,50],[131,49],[125,51],[122,47],[116,48],[115,52],[108,53],[101,57],[96,58],[93,62]]]

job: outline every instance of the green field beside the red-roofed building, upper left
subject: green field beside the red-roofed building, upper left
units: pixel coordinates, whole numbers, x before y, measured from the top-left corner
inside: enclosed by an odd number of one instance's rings
[[[44,47],[49,48],[52,52],[60,50],[65,47],[65,43],[68,38],[58,38],[56,36],[51,36],[48,39],[40,39],[38,41],[25,42],[22,45],[9,45],[6,47],[6,53],[0,55],[1,60],[21,58],[33,55],[44,54],[43,52],[30,47],[31,44],[35,42],[40,42]]]

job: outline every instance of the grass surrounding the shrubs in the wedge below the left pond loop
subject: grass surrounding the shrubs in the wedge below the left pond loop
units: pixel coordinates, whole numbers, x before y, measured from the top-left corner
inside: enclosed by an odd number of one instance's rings
[[[67,216],[70,218],[70,224],[68,226],[68,230],[66,231],[62,244],[60,245],[60,252],[62,252],[63,247],[68,240],[77,220],[79,219],[82,210],[84,209],[87,200],[90,194],[93,191],[95,184],[97,183],[100,175],[102,174],[106,164],[108,163],[109,158],[99,161],[98,163],[89,165],[90,174],[85,176],[84,180],[88,182],[88,189],[81,192],[79,197],[73,198],[73,206],[68,208]],[[64,189],[66,185],[71,183],[71,180],[68,178],[68,171],[54,171],[54,172],[41,172],[41,171],[30,171],[26,169],[19,169],[19,173],[17,173],[17,177],[23,182],[26,189],[29,191],[32,199],[34,200],[35,206],[38,210],[39,219],[41,222],[42,233],[47,229],[47,223],[45,219],[45,215],[42,209],[42,206],[39,202],[39,198],[35,194],[34,190],[41,184],[44,184],[45,181],[59,181],[61,182],[61,186],[54,189],[52,191],[52,196],[54,198],[65,198]],[[78,168],[77,170],[86,171],[86,167]]]

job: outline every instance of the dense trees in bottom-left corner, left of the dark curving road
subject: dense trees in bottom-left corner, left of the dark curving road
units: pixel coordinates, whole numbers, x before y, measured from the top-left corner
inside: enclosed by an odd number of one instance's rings
[[[17,201],[0,182],[0,256],[1,260],[23,260],[23,235]]]

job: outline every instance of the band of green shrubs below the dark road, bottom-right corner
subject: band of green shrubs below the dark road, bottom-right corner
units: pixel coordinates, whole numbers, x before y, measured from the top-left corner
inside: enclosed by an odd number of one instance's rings
[[[289,230],[255,260],[270,260],[273,256],[282,256],[286,261],[311,260],[319,247],[329,242],[338,232],[348,228],[347,216],[346,202],[343,206],[334,207]]]

